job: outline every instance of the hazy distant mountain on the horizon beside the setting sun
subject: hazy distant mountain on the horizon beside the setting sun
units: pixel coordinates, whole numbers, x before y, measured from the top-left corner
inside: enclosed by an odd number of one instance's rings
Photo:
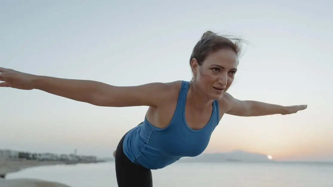
[[[206,153],[196,157],[184,157],[179,162],[257,162],[272,161],[267,155],[260,153],[234,150],[231,152]]]

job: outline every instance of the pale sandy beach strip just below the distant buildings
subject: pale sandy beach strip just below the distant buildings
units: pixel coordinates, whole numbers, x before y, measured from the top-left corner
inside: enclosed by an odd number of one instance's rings
[[[16,160],[0,160],[0,175],[8,174],[26,169],[29,167],[36,166],[46,166],[46,165],[55,165],[55,164],[65,164],[62,161],[37,161],[37,160],[26,160],[26,159],[16,159]]]

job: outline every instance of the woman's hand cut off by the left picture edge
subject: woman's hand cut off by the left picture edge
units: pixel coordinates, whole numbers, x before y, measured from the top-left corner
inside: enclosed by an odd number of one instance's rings
[[[22,90],[32,90],[36,75],[0,67],[0,87],[11,87]]]

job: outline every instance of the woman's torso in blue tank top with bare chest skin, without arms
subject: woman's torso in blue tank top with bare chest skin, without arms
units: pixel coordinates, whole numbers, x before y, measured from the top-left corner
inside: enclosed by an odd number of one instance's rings
[[[166,102],[159,109],[150,108],[144,122],[127,133],[123,149],[130,160],[159,169],[205,150],[223,114],[216,100],[200,114],[188,110],[188,88],[189,82],[181,81],[175,102]]]

